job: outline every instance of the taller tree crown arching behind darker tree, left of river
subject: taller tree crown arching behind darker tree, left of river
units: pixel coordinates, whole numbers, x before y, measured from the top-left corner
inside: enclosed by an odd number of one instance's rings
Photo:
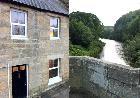
[[[70,14],[70,22],[82,22],[86,27],[90,28],[92,36],[99,37],[103,31],[103,25],[96,15],[84,12],[73,12]]]

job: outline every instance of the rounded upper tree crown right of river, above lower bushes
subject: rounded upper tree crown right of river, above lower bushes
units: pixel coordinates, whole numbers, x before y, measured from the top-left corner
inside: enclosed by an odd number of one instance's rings
[[[133,39],[140,32],[140,10],[129,12],[120,17],[115,26],[113,39],[121,42]]]

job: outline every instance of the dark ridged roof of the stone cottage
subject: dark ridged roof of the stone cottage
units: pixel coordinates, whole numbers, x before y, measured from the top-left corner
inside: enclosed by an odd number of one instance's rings
[[[7,0],[6,0],[7,1]],[[50,12],[69,15],[64,4],[59,0],[8,0],[10,3],[18,3],[29,7],[46,10]]]

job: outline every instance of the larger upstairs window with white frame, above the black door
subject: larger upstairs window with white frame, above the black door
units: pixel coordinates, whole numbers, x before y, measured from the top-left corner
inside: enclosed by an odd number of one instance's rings
[[[27,38],[27,13],[11,9],[10,21],[12,39]]]

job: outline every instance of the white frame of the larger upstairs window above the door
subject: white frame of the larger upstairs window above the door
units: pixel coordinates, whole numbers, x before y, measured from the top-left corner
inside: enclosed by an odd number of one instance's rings
[[[12,22],[12,12],[13,11],[22,12],[22,13],[25,14],[25,24],[13,23]],[[27,12],[12,8],[10,10],[10,24],[11,24],[11,39],[27,39]],[[13,35],[13,33],[12,33],[12,30],[13,30],[12,25],[25,26],[25,35]]]

